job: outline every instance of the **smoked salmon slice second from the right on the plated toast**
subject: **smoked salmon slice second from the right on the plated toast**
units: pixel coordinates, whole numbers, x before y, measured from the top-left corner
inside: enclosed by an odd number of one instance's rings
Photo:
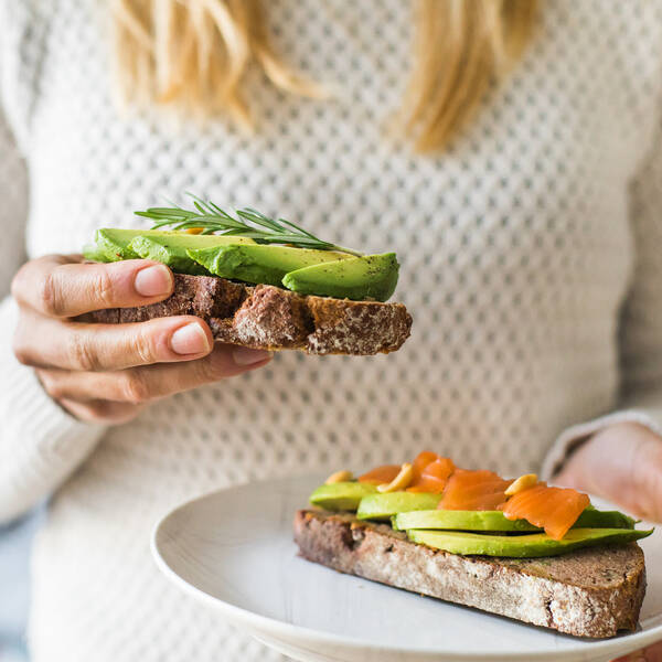
[[[448,479],[439,509],[495,510],[505,502],[505,490],[512,480],[504,480],[493,471],[457,469]]]

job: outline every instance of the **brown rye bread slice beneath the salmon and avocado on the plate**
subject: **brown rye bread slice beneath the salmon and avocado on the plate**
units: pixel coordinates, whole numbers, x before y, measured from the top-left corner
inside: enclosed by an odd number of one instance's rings
[[[544,558],[460,556],[412,543],[388,524],[300,510],[300,555],[341,573],[576,637],[634,630],[645,591],[637,543]]]

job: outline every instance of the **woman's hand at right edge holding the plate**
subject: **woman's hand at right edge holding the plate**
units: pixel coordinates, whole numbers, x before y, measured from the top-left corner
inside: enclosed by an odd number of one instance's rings
[[[662,522],[662,439],[636,423],[612,425],[585,441],[554,482]],[[627,661],[662,662],[662,642],[615,662]]]

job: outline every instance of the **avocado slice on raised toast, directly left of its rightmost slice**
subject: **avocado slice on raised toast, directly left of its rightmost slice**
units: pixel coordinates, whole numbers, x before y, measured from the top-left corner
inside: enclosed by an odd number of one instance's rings
[[[246,282],[263,282],[279,287],[282,286],[282,278],[288,271],[350,258],[349,254],[338,250],[258,244],[194,248],[189,250],[188,255],[210,273],[222,278],[235,278]]]

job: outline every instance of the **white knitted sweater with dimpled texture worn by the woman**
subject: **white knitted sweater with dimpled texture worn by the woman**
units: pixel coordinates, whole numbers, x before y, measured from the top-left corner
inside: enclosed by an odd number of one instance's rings
[[[196,494],[424,447],[508,476],[547,458],[549,471],[605,415],[662,424],[662,4],[545,3],[524,61],[438,157],[386,130],[410,64],[408,2],[265,4],[278,50],[338,95],[286,96],[255,72],[246,137],[224,120],[175,131],[120,117],[105,2],[0,0],[4,110],[30,174],[25,215],[2,130],[4,292],[25,248],[76,252],[95,227],[136,226],[132,210],[192,190],[397,250],[395,299],[414,317],[393,355],[284,352],[105,429],[14,361],[6,299],[0,519],[54,494],[33,558],[38,662],[267,659],[150,559],[154,521]]]

